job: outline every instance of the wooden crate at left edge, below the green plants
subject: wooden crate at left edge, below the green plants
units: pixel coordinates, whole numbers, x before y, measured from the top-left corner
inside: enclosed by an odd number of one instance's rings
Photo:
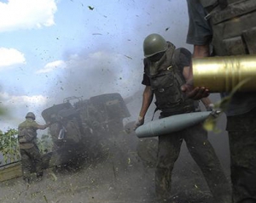
[[[21,162],[0,166],[0,182],[22,176]]]

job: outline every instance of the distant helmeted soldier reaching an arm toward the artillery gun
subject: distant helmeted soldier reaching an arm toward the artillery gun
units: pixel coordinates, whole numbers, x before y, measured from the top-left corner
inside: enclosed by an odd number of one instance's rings
[[[22,173],[26,183],[30,182],[31,172],[34,168],[38,178],[42,178],[44,174],[42,157],[36,143],[37,130],[44,130],[50,124],[39,125],[35,120],[36,116],[32,112],[28,112],[26,114],[26,121],[21,122],[18,127]]]

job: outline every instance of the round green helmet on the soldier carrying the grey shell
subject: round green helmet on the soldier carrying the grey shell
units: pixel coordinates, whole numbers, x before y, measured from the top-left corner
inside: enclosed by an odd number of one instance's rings
[[[153,56],[166,51],[168,45],[164,37],[159,34],[148,35],[143,42],[143,51],[145,57]]]

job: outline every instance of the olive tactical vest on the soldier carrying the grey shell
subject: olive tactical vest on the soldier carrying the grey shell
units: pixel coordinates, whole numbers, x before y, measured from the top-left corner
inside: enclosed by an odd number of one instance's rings
[[[145,74],[149,77],[157,109],[166,116],[195,111],[194,101],[181,91],[185,83],[182,69],[178,69],[180,48],[168,42],[166,53],[157,62],[145,58]]]

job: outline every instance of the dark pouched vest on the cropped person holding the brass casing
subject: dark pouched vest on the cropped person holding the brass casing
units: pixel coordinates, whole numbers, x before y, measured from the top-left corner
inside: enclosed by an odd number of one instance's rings
[[[227,5],[220,8],[223,2]],[[255,0],[201,0],[201,4],[209,12],[214,54],[256,54]]]

